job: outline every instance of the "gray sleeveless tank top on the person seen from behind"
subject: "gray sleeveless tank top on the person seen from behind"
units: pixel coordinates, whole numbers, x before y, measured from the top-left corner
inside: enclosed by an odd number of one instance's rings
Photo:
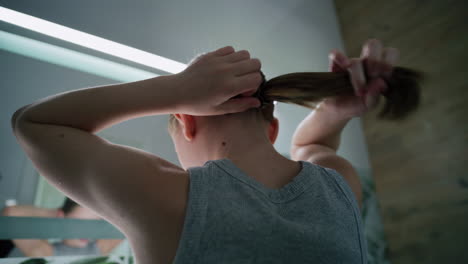
[[[343,176],[299,162],[300,173],[280,189],[229,159],[189,168],[173,263],[367,263],[359,206]]]

